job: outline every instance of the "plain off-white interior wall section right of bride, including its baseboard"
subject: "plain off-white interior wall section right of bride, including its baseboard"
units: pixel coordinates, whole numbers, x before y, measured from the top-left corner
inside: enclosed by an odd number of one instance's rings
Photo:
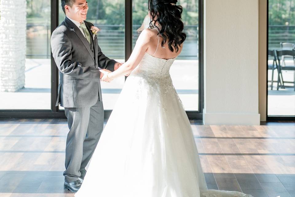
[[[259,124],[258,0],[204,0],[204,124]]]

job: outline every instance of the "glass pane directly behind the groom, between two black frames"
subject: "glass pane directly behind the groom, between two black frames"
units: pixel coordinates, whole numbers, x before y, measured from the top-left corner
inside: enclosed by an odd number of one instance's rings
[[[89,10],[86,21],[100,29],[97,39],[101,51],[108,58],[115,59],[117,62],[125,62],[125,1],[88,0],[87,2]],[[64,19],[65,14],[60,9],[60,23]],[[114,79],[112,83],[101,82],[105,110],[113,109],[124,81],[123,76]]]

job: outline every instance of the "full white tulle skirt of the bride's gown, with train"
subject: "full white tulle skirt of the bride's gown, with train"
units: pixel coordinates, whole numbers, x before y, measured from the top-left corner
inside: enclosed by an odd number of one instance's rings
[[[75,197],[238,197],[207,190],[191,124],[170,76],[129,76]]]

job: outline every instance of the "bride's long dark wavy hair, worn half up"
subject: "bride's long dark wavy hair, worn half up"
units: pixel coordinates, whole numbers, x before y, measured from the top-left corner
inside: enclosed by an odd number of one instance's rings
[[[158,22],[161,26],[159,36],[163,38],[162,47],[168,39],[169,50],[174,52],[175,49],[177,53],[187,34],[183,32],[182,6],[176,5],[176,3],[177,0],[148,0],[148,10],[151,14],[150,27],[156,27],[159,30],[159,27],[154,25]]]

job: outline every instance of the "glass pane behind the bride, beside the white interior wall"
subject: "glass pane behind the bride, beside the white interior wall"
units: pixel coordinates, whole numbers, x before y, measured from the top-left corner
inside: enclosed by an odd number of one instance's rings
[[[149,27],[148,1],[133,0],[132,4],[132,41],[133,47],[143,29]],[[183,50],[170,69],[173,85],[183,102],[185,110],[198,111],[199,108],[199,2],[196,0],[180,0],[183,6],[182,21],[187,39]],[[183,74],[182,70],[189,70]],[[182,73],[179,75],[179,73]]]

